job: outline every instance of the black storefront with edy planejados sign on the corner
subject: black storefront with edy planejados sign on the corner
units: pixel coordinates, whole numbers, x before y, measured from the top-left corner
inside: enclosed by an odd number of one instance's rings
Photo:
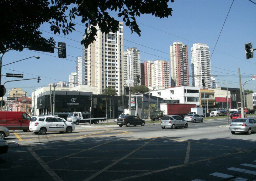
[[[69,113],[86,113],[90,118],[91,92],[55,91],[55,115],[66,118]],[[53,104],[53,91],[52,91]],[[39,115],[50,113],[50,91],[40,94],[37,98]],[[128,97],[124,96],[124,108],[128,108]],[[108,118],[117,118],[122,113],[122,96],[107,96]],[[92,96],[92,118],[106,117],[105,95]]]

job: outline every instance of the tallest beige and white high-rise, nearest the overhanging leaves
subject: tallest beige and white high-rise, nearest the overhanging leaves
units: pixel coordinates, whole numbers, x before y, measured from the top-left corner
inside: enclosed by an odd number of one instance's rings
[[[98,26],[96,29],[96,40],[82,50],[85,83],[96,86],[102,93],[106,87],[111,87],[121,95],[124,84],[123,23],[119,22],[116,33],[102,33]]]

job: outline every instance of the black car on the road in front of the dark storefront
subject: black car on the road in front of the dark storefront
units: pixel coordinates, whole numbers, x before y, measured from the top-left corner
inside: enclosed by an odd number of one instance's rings
[[[145,120],[138,118],[135,115],[125,115],[119,119],[117,119],[117,124],[122,127],[123,125],[126,125],[127,127],[129,127],[130,125],[141,125],[144,126]]]

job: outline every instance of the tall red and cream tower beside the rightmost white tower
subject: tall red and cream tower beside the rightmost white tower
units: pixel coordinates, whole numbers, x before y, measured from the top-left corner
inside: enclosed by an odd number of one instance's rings
[[[171,86],[189,86],[187,45],[176,41],[170,45]]]

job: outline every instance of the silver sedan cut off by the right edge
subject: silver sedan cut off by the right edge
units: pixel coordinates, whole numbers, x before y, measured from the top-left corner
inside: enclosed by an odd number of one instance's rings
[[[250,135],[252,131],[256,131],[256,121],[251,118],[235,119],[229,125],[229,131],[231,131],[231,134],[235,134],[235,132],[247,132]]]

